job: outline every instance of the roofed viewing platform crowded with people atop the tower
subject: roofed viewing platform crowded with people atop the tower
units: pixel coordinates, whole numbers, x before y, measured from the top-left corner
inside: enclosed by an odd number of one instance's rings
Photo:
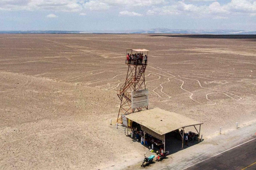
[[[148,52],[147,49],[127,49],[125,64],[147,65]]]

